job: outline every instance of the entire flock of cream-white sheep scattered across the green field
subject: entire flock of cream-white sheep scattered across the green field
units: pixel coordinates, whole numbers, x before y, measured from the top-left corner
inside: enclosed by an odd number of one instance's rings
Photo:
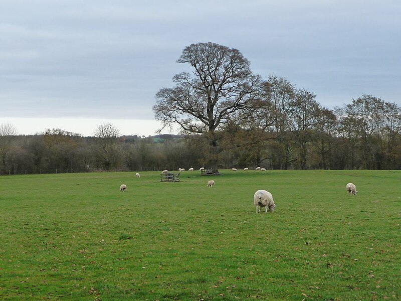
[[[203,171],[205,170],[204,167],[201,167],[199,169],[199,171]],[[247,167],[244,168],[244,171],[249,170]],[[266,171],[266,169],[264,168],[260,168],[257,167],[256,168],[257,171]],[[185,171],[185,169],[183,168],[179,168],[178,171],[183,172]],[[193,172],[193,168],[188,169],[189,172]],[[232,171],[237,172],[238,170],[236,168],[233,168]],[[162,174],[167,173],[167,170],[162,171]],[[139,173],[135,174],[136,178],[140,178],[141,176],[139,175]],[[214,180],[210,180],[208,181],[208,187],[213,187],[215,186],[215,181]],[[350,195],[356,195],[357,191],[356,191],[356,187],[354,184],[352,183],[348,183],[346,186],[346,191],[348,194]],[[127,189],[127,186],[125,184],[122,184],[120,186],[120,191],[125,191]],[[266,190],[258,190],[257,192],[255,192],[254,194],[254,205],[256,206],[256,213],[259,213],[260,210],[262,209],[262,207],[265,207],[265,212],[267,213],[267,208],[269,208],[269,210],[271,212],[274,212],[274,208],[276,208],[277,204],[274,204],[273,201],[273,196],[270,192],[266,191]]]

